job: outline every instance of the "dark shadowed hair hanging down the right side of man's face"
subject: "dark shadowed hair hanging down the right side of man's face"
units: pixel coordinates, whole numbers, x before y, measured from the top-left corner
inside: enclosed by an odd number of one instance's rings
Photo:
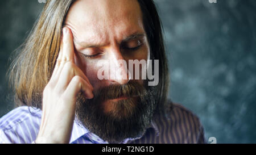
[[[159,60],[159,84],[156,86],[155,92],[155,101],[158,103],[156,112],[166,113],[166,110],[170,110],[171,103],[167,102],[170,82],[168,63],[162,34],[162,23],[154,1],[138,0],[138,2],[141,6],[144,30],[147,33],[147,39],[150,45],[150,57],[152,60]]]

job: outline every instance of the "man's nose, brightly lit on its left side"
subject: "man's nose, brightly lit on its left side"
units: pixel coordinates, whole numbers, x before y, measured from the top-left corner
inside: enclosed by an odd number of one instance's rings
[[[109,73],[112,84],[125,85],[130,81],[127,61],[119,49],[112,49],[109,53]]]

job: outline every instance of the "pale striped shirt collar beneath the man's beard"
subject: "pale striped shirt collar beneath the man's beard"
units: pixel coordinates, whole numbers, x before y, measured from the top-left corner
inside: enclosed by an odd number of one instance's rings
[[[154,119],[152,120],[152,122],[148,128],[153,128],[156,136],[159,135],[159,129],[158,129]],[[76,141],[77,139],[79,139],[82,136],[86,136],[90,140],[97,141],[98,143],[108,143],[108,142],[102,140],[100,137],[98,137],[94,133],[90,132],[87,128],[84,127],[84,125],[80,124],[79,120],[75,117],[75,120],[73,123],[73,129],[72,129],[72,133],[71,133],[71,139],[70,139],[69,143],[73,143],[74,141]],[[123,140],[121,143],[127,143],[128,141],[140,139],[141,137],[128,138],[128,139]]]

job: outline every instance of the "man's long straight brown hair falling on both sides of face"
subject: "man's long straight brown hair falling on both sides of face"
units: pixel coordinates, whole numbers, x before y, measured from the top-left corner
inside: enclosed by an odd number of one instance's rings
[[[17,51],[9,68],[10,86],[16,106],[42,108],[44,87],[51,78],[59,54],[61,30],[74,0],[46,2],[43,11],[26,41]],[[138,0],[143,24],[150,44],[151,59],[159,60],[159,84],[156,86],[158,112],[167,103],[169,86],[168,65],[164,51],[162,25],[152,0]]]

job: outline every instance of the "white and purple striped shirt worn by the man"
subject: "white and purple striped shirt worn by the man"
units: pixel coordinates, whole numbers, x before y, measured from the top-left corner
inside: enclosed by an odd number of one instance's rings
[[[0,119],[0,143],[33,143],[39,132],[42,111],[21,106]],[[174,104],[170,117],[158,116],[141,137],[125,139],[122,143],[205,143],[204,129],[199,118],[180,104]],[[89,132],[75,119],[69,143],[107,144]]]

